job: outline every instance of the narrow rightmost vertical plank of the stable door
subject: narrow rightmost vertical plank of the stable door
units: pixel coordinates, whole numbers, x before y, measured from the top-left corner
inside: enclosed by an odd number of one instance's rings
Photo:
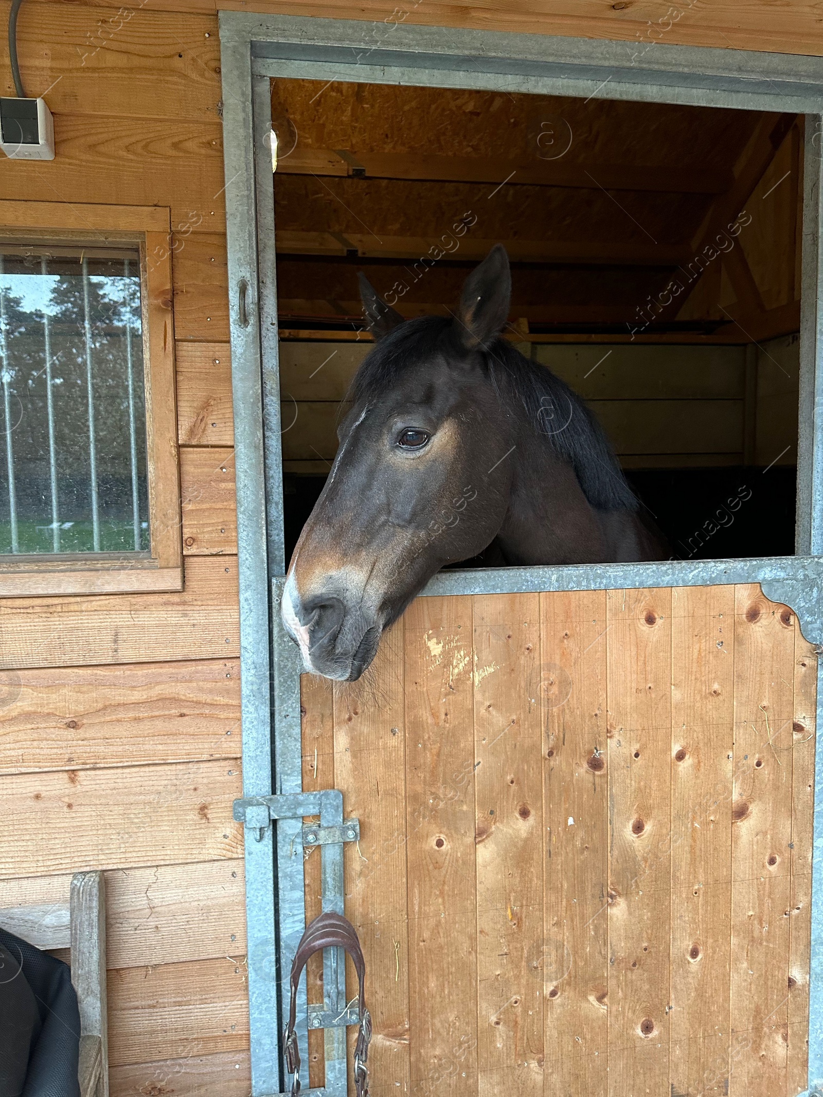
[[[818,654],[796,624],[787,1097],[808,1084],[816,715]]]

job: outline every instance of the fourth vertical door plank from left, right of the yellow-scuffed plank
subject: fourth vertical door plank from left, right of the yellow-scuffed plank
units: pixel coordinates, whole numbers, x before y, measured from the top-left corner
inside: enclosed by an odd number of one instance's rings
[[[540,596],[473,599],[478,1094],[543,1093]],[[491,1088],[489,1088],[491,1086]]]

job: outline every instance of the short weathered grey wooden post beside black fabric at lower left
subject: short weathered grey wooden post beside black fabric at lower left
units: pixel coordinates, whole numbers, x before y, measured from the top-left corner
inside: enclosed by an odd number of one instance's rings
[[[80,1095],[109,1097],[105,993],[105,883],[102,872],[71,879],[71,982],[80,1006]]]

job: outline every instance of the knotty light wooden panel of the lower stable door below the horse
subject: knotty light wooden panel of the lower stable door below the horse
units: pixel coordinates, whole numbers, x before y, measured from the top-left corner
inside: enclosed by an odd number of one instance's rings
[[[304,676],[372,1093],[804,1090],[815,682],[757,586],[418,598],[363,680]]]

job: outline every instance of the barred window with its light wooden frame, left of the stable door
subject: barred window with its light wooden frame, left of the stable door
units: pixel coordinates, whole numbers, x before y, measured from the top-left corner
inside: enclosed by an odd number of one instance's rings
[[[181,587],[168,211],[139,213],[0,203],[2,593]]]

